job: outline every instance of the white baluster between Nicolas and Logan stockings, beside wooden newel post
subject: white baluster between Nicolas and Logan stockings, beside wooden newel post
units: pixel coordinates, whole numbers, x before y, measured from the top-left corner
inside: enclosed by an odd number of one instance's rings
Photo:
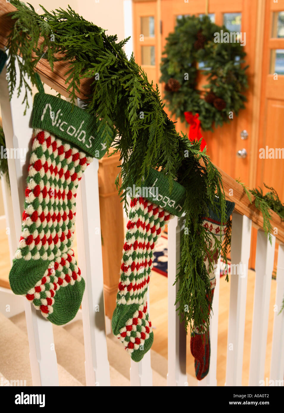
[[[105,335],[98,165],[98,159],[93,159],[79,183],[76,237],[78,265],[86,282],[82,301],[86,385],[110,386]]]

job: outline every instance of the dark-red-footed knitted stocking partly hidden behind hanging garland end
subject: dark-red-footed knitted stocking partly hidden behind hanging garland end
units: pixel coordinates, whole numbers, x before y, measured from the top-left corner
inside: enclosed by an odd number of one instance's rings
[[[234,202],[226,201],[226,206],[227,206],[227,217],[226,217],[226,222],[227,222],[230,215],[233,212],[235,204]],[[212,270],[211,268],[211,270],[209,271],[209,267],[210,267],[210,262],[211,262],[214,268],[214,265],[217,264],[218,257],[220,255],[219,250],[216,250],[216,252],[214,253],[214,249],[213,249],[214,241],[213,241],[212,234],[214,234],[216,237],[220,236],[221,240],[223,240],[224,234],[226,232],[226,226],[225,225],[222,226],[222,231],[221,231],[220,217],[218,217],[212,211],[209,211],[209,217],[203,220],[203,226],[207,228],[208,232],[210,233],[210,239],[211,239],[208,245],[207,255],[204,260],[204,263],[205,263],[205,266],[208,272],[208,277],[210,278],[210,285],[211,285],[211,299],[210,299],[210,305],[208,308],[208,311],[210,313],[214,289],[216,285],[216,278],[215,278],[214,270]],[[202,380],[208,374],[208,371],[209,371],[210,336],[209,336],[209,331],[207,331],[206,328],[203,328],[201,326],[196,326],[194,324],[193,324],[193,331],[194,331],[194,336],[193,335],[191,336],[190,349],[191,349],[191,354],[195,358],[194,366],[195,366],[196,378],[198,380]]]

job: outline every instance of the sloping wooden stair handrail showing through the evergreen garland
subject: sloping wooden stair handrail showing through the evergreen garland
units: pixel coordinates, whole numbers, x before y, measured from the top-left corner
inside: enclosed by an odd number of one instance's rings
[[[13,21],[7,17],[7,13],[16,10],[11,3],[5,0],[0,0],[0,48],[4,48],[7,43],[7,34],[12,28]],[[67,87],[69,83],[65,83],[66,77],[64,73],[68,70],[67,62],[55,62],[54,71],[50,69],[48,62],[44,59],[36,67],[36,71],[41,76],[41,79],[48,86],[59,92],[61,95],[68,97]],[[84,99],[89,93],[88,84],[90,79],[82,79],[80,84],[81,93],[77,96],[80,99]],[[253,222],[253,226],[256,228],[263,228],[263,215],[255,207],[254,204],[251,204],[248,196],[243,190],[243,187],[237,183],[233,178],[231,178],[227,173],[223,172],[222,169],[218,168],[222,175],[222,181],[224,186],[225,196],[229,201],[235,202],[235,211],[241,215],[246,215]],[[231,195],[232,190],[232,195]],[[254,198],[252,197],[252,200]],[[279,244],[284,244],[284,225],[281,218],[272,210],[271,213],[271,225],[272,228],[277,228],[278,234],[274,234],[277,242]]]

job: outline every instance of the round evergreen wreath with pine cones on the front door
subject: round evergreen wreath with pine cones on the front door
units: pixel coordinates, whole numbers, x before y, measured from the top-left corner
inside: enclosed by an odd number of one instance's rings
[[[162,58],[160,81],[165,82],[169,109],[181,121],[184,112],[198,113],[203,131],[229,122],[229,115],[237,115],[246,101],[246,53],[241,43],[215,43],[221,30],[228,32],[208,16],[181,17],[167,38]],[[196,89],[199,69],[208,74],[205,90]]]

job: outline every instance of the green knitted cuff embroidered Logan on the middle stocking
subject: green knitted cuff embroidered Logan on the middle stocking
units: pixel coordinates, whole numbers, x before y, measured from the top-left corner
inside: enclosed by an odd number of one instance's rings
[[[174,181],[172,190],[169,190],[169,180],[162,172],[151,169],[143,181],[145,195],[150,202],[165,208],[170,214],[181,216],[184,212],[186,189]]]

